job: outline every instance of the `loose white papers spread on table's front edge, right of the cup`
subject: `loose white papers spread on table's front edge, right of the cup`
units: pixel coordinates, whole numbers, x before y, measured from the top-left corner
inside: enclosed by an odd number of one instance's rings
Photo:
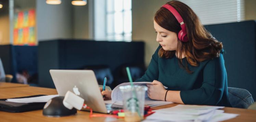
[[[143,122],[153,121],[224,121],[238,116],[218,110],[220,106],[177,105],[175,107],[154,110],[155,113]]]

